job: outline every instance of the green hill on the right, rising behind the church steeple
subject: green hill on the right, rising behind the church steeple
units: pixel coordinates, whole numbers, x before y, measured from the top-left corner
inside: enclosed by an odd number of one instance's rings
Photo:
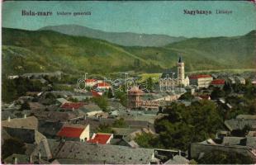
[[[256,31],[238,37],[192,38],[164,47],[127,47],[125,50],[153,64],[174,66],[182,54],[189,71],[221,68],[256,68]]]

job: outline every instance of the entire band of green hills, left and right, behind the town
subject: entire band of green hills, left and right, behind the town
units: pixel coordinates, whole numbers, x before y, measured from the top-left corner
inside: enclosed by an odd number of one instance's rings
[[[255,68],[255,31],[239,37],[183,40],[164,47],[125,47],[55,31],[2,28],[2,72],[158,73],[182,54],[187,70]]]

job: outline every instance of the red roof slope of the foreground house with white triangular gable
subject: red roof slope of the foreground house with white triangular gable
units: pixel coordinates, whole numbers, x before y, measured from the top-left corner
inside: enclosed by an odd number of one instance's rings
[[[58,132],[58,136],[64,136],[68,138],[79,138],[83,133],[84,128],[76,128],[71,126],[63,126]]]

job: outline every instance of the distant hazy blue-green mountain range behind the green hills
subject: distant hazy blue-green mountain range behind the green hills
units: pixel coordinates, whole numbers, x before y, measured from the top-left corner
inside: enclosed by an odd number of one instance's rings
[[[57,31],[65,35],[86,36],[89,38],[107,40],[123,46],[164,46],[173,42],[186,40],[185,37],[169,35],[147,35],[130,32],[106,32],[77,25],[45,26],[39,31]]]

